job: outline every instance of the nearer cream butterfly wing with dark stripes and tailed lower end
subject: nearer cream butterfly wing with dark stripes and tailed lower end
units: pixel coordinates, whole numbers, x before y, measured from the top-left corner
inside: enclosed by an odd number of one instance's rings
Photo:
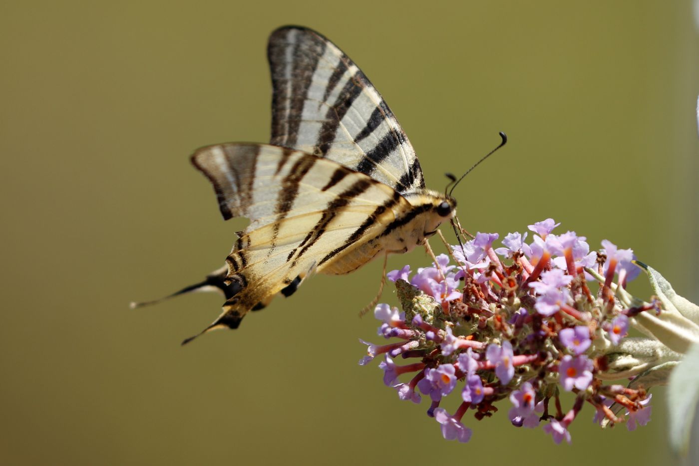
[[[394,212],[410,209],[386,184],[285,147],[212,145],[192,162],[213,184],[225,219],[250,219],[215,285],[226,295],[224,312],[204,332],[237,328],[247,311],[278,293],[290,296],[312,272],[359,268],[381,250],[378,242],[366,243],[395,220]],[[363,253],[352,254],[360,245]]]

